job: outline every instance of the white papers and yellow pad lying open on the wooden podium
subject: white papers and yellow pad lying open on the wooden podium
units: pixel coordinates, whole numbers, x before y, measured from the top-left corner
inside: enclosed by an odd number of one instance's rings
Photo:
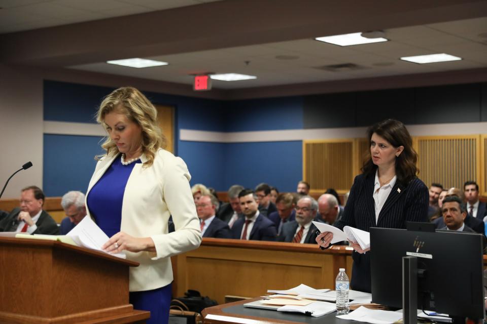
[[[52,239],[58,240],[63,243],[84,247],[96,251],[100,251],[103,253],[107,253],[101,249],[103,244],[105,244],[109,237],[105,232],[101,230],[101,228],[96,225],[95,222],[90,217],[85,217],[78,225],[75,226],[69,233],[66,235],[41,235],[41,234],[16,234],[15,237],[21,238],[39,238],[39,239]],[[125,259],[125,253],[120,252],[117,254],[107,253],[113,255],[115,257],[119,257]]]

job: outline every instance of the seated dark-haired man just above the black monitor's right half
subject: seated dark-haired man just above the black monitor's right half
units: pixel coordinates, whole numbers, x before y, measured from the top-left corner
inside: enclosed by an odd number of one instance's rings
[[[471,229],[464,223],[464,220],[467,217],[467,208],[465,206],[465,203],[459,197],[445,197],[445,199],[443,200],[441,212],[443,214],[443,221],[446,224],[446,226],[441,229],[449,231],[476,233],[473,229]],[[485,238],[485,235],[482,235],[482,238],[485,254],[487,238]]]

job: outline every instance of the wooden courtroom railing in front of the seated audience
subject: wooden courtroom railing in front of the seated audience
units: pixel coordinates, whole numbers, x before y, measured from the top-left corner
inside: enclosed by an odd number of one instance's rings
[[[352,251],[315,244],[203,238],[199,249],[172,257],[173,294],[198,290],[218,303],[300,284],[333,289],[339,268],[352,274]]]

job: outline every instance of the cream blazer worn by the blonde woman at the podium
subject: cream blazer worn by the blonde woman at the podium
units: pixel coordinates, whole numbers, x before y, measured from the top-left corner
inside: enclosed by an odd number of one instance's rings
[[[86,197],[114,159],[113,156],[106,156],[98,161]],[[141,160],[145,163],[147,157],[142,155]],[[127,259],[140,263],[138,267],[130,267],[131,292],[170,284],[170,256],[199,247],[201,230],[189,186],[190,179],[183,159],[163,149],[156,153],[151,167],[143,168],[142,164],[133,167],[123,195],[121,231],[134,237],[151,237],[156,252],[125,251]],[[91,217],[88,207],[86,211]],[[170,215],[176,228],[172,233],[167,230]]]

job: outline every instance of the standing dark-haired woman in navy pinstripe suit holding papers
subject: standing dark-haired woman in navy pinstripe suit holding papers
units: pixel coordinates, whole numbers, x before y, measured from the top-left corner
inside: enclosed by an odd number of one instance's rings
[[[428,188],[416,177],[418,155],[406,127],[387,119],[368,130],[370,152],[355,177],[341,219],[333,224],[369,231],[370,227],[406,228],[406,222],[428,220]],[[316,241],[328,248],[331,232],[321,233]],[[370,254],[353,244],[351,286],[354,290],[371,292]]]

